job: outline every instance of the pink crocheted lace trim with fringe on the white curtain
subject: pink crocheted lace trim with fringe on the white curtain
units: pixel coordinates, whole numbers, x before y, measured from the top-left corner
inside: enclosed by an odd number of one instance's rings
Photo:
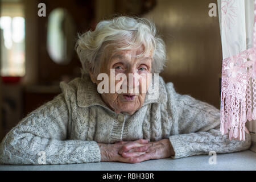
[[[245,140],[245,123],[256,119],[256,0],[253,48],[222,61],[221,133]]]

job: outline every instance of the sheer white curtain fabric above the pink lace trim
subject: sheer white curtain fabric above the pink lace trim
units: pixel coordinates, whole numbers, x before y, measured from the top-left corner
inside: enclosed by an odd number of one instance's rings
[[[218,0],[217,2],[222,43],[222,59],[232,60],[232,56],[236,56],[239,53],[253,47],[253,26],[254,16],[256,14],[256,12],[254,14],[255,2],[254,0]],[[246,59],[244,60],[246,61]],[[243,64],[244,63],[245,62],[243,62]],[[223,73],[224,65],[222,66]],[[246,89],[247,82],[246,80],[243,81],[243,88]],[[249,85],[251,85],[251,82]],[[238,91],[240,90],[237,89],[234,91],[234,93],[237,93]],[[222,108],[222,110],[224,110],[224,108]],[[241,111],[240,114],[242,115],[242,113],[243,112]],[[240,117],[240,119],[238,118],[239,122],[241,122],[241,118],[242,117]],[[247,124],[247,126],[249,126],[249,131],[256,132],[255,121],[251,121]]]

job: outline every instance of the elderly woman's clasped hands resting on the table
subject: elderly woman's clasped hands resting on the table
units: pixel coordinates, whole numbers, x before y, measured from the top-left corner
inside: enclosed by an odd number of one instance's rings
[[[140,163],[150,159],[163,159],[175,155],[169,139],[148,142],[146,139],[121,141],[113,144],[98,143],[101,162]]]

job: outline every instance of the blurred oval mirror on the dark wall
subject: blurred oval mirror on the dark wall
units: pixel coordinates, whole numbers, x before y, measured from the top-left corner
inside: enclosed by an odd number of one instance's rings
[[[68,64],[73,56],[75,23],[68,10],[54,9],[48,18],[47,51],[57,64]]]

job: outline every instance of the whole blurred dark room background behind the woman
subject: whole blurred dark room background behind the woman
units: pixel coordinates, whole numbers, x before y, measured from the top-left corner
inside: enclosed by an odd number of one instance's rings
[[[46,5],[46,16],[39,3]],[[151,19],[167,46],[160,74],[178,93],[220,108],[222,63],[217,0],[1,0],[0,139],[28,113],[80,77],[77,33],[117,15]]]

